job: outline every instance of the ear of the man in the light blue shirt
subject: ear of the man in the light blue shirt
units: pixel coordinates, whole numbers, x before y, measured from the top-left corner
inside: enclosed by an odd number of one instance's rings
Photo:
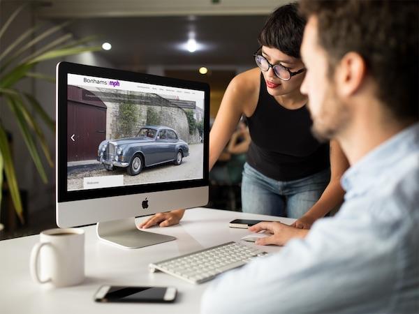
[[[348,52],[335,70],[335,82],[339,96],[348,97],[360,89],[365,80],[367,66],[365,60],[356,52]]]

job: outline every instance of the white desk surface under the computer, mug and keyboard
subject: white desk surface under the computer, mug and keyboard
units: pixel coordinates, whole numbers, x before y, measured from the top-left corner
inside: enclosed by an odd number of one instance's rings
[[[294,221],[236,211],[189,209],[180,225],[149,229],[175,236],[177,240],[134,250],[105,244],[96,238],[95,226],[84,227],[87,278],[81,285],[59,289],[31,281],[29,255],[39,240],[38,235],[0,241],[0,313],[199,313],[200,298],[208,283],[192,285],[161,272],[149,273],[148,264],[228,241],[240,241],[249,231],[228,227],[228,222],[236,218],[281,220],[288,224]],[[263,249],[273,253],[281,248],[265,246]],[[94,292],[105,284],[172,285],[177,287],[178,295],[174,304],[96,303]]]

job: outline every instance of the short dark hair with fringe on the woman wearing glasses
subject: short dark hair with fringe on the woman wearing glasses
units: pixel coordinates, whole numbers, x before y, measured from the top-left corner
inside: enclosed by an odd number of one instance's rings
[[[297,3],[280,6],[267,18],[260,31],[259,45],[277,48],[290,57],[301,59],[300,47],[306,21],[298,14]]]

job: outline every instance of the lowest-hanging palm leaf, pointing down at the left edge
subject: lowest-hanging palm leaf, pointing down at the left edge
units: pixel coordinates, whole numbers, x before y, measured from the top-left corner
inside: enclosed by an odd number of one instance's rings
[[[20,200],[19,188],[17,187],[15,167],[13,166],[13,159],[8,145],[6,132],[0,124],[0,152],[3,158],[4,172],[6,174],[10,196],[12,197],[13,204],[15,205],[16,214],[20,218],[20,222],[24,223],[22,215],[22,202]]]

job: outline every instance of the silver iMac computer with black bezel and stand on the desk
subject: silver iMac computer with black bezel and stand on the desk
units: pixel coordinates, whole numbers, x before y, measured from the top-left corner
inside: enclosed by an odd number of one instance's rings
[[[175,239],[135,217],[207,204],[209,118],[208,84],[58,63],[57,225],[125,248]]]

